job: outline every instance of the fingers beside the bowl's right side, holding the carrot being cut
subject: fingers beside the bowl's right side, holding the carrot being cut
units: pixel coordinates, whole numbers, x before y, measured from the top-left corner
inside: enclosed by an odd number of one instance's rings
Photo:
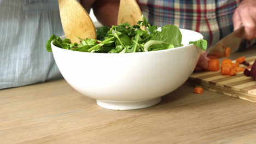
[[[208,61],[210,60],[210,58],[207,57],[207,52],[206,51],[202,51],[199,57],[199,60],[196,64],[196,67],[194,69],[194,71],[201,71],[201,70],[206,70],[208,67]]]

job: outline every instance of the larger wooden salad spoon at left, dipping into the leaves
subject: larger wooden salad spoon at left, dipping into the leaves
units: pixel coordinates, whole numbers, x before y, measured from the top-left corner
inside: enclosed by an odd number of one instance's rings
[[[77,0],[59,0],[61,23],[66,38],[72,43],[80,39],[96,39],[96,29],[89,14]]]

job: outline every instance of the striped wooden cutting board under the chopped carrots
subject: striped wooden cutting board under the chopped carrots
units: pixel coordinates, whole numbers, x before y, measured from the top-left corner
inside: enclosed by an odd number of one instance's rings
[[[256,56],[248,57],[246,61],[252,65],[255,59]],[[242,64],[240,67],[247,68]],[[243,72],[238,72],[235,76],[221,75],[220,71],[197,72],[191,74],[188,83],[195,87],[256,103],[256,81],[251,76],[244,75]]]

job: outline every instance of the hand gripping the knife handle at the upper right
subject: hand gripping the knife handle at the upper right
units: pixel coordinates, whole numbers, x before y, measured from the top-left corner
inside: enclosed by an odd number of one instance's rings
[[[242,1],[232,17],[234,23],[234,30],[245,26],[245,39],[256,39],[256,1],[244,0]]]

